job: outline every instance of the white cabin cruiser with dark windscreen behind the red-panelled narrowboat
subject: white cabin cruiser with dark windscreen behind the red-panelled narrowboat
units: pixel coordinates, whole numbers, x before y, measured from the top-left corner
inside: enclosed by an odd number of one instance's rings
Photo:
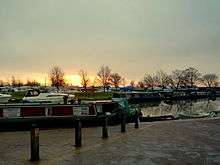
[[[38,90],[29,90],[23,98],[23,102],[64,104],[65,97],[67,102],[70,102],[75,96],[65,93],[41,93]]]

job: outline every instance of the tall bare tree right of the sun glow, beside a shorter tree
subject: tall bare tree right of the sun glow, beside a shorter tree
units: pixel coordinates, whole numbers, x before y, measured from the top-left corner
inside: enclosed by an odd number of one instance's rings
[[[98,81],[103,86],[104,91],[106,91],[110,85],[110,75],[111,69],[108,66],[102,66],[97,73]]]

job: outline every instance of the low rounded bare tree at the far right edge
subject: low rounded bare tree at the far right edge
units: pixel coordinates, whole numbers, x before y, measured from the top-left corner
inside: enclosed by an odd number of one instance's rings
[[[205,74],[200,81],[203,85],[209,88],[218,86],[218,76],[216,74]]]

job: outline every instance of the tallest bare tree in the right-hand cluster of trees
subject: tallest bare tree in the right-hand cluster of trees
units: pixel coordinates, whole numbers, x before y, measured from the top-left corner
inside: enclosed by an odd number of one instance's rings
[[[189,67],[183,71],[185,77],[185,84],[194,87],[196,82],[200,79],[201,73],[193,67]]]

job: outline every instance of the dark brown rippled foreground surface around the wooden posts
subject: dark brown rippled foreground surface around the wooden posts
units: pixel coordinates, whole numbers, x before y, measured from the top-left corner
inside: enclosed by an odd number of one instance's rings
[[[73,129],[40,131],[39,162],[30,162],[29,132],[0,132],[0,164],[220,164],[220,118],[128,124],[83,129],[83,147],[76,149]]]

